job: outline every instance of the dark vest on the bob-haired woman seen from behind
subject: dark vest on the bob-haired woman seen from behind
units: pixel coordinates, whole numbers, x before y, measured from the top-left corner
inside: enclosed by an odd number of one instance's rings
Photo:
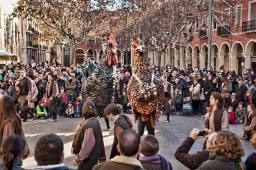
[[[95,136],[95,145],[87,159],[95,160],[95,159],[100,158],[100,153],[101,153],[100,124],[98,122],[98,119],[96,119],[96,118],[93,118],[92,120],[90,120],[86,124],[84,124],[83,127],[81,127],[79,134],[77,136],[77,140],[75,141],[73,152],[75,153],[75,155],[77,155],[80,152],[80,150],[82,148],[83,137],[85,135],[85,130],[88,128],[93,129],[93,134]]]

